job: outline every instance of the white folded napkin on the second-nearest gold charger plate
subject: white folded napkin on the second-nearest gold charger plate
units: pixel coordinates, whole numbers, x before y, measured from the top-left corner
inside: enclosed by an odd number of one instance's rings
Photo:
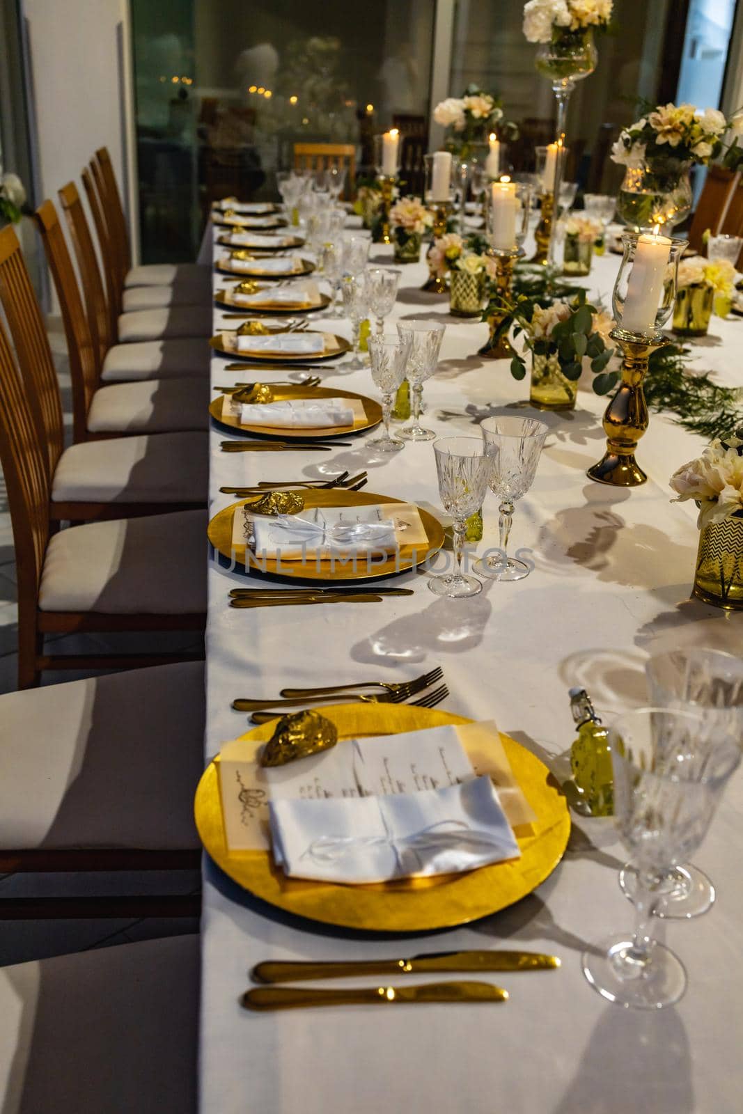
[[[378,507],[312,507],[300,515],[255,515],[252,520],[256,555],[283,560],[358,557],[398,549],[394,519]]]

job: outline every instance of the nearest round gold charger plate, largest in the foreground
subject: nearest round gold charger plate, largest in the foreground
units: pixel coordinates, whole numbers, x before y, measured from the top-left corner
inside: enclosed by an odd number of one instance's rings
[[[323,707],[341,739],[397,734],[470,721],[449,712],[407,704]],[[246,739],[265,741],[274,724]],[[498,912],[531,893],[557,867],[570,834],[570,815],[549,770],[530,751],[501,734],[511,770],[538,820],[517,834],[520,859],[480,867],[466,874],[411,878],[373,886],[340,886],[286,878],[267,851],[229,854],[225,843],[216,763],[196,790],[194,813],[204,848],[234,881],[272,906],[310,920],[374,932],[420,932],[450,928]]]

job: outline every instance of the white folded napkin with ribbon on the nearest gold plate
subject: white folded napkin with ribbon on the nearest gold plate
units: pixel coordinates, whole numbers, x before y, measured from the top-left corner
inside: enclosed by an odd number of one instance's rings
[[[271,801],[268,817],[274,859],[292,878],[382,882],[520,856],[487,775],[420,793]]]

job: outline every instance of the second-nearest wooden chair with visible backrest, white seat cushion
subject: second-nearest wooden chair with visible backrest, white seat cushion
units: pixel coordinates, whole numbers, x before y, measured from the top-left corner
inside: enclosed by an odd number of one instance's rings
[[[46,459],[48,516],[90,521],[205,506],[206,434],[157,433],[63,448],[57,372],[20,244],[10,226],[0,231],[0,303],[16,345],[39,451]],[[78,404],[82,407],[85,398]],[[11,418],[12,413],[11,408]]]

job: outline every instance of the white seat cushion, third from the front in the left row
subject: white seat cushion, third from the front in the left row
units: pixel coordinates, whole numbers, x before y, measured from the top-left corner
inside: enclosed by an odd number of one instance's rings
[[[39,607],[108,615],[202,614],[207,522],[205,510],[179,510],[86,522],[53,534]]]

